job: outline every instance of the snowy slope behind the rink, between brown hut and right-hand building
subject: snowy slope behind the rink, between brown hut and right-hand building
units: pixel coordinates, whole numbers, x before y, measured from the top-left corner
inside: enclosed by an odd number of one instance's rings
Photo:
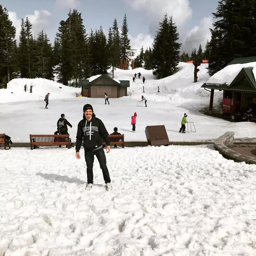
[[[192,63],[180,62],[178,65],[179,71],[163,79],[156,80],[152,74],[152,70],[144,68],[135,68],[133,70],[121,70],[116,68],[114,77],[120,80],[130,80],[130,87],[127,88],[127,93],[132,99],[139,99],[141,95],[145,96],[150,101],[171,102],[175,106],[187,102],[195,102],[197,109],[205,107],[209,104],[210,93],[201,88],[201,86],[209,79],[207,73],[208,64],[201,64],[197,73],[198,82],[194,83],[194,65]],[[110,72],[111,70],[109,70]],[[141,73],[140,79],[137,76],[135,82],[132,81],[134,74]],[[145,76],[145,84],[142,78]],[[143,86],[144,91],[143,92]],[[158,91],[159,86],[159,91]],[[222,92],[215,92],[214,107],[218,106]]]

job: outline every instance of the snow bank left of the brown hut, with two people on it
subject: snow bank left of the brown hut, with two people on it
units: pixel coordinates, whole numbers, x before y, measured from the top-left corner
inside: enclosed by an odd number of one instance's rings
[[[27,84],[27,92],[24,91],[25,84]],[[32,93],[29,92],[30,85],[34,86]],[[44,78],[16,78],[7,84],[7,89],[0,89],[0,102],[38,101],[40,96],[45,96],[48,92],[50,93],[49,100],[54,100],[75,97],[76,92],[81,93],[81,89],[65,86]]]

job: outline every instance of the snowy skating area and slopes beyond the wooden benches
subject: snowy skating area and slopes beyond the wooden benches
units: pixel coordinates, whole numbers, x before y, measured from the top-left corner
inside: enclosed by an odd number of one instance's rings
[[[198,72],[198,82],[193,83],[193,64],[180,63],[173,76],[156,80],[151,70],[136,68],[134,70],[115,70],[115,79],[130,80],[127,97],[109,99],[110,105],[104,105],[104,99],[76,98],[81,88],[67,87],[45,79],[31,79],[35,84],[33,93],[24,92],[24,84],[29,79],[14,79],[8,89],[0,90],[0,132],[4,132],[14,142],[29,142],[29,134],[53,134],[57,130],[57,121],[64,113],[73,125],[69,128],[71,139],[75,141],[76,126],[83,116],[83,106],[90,103],[109,133],[116,126],[125,135],[125,141],[146,141],[147,125],[165,125],[170,141],[213,141],[225,132],[235,132],[236,140],[256,141],[255,124],[250,122],[231,123],[222,119],[205,116],[199,108],[209,105],[210,93],[201,88],[209,78],[207,64],[202,64]],[[134,73],[145,76],[132,82]],[[31,82],[31,83],[32,83]],[[157,92],[159,86],[160,92]],[[61,89],[59,87],[62,87]],[[16,91],[14,96],[10,90]],[[38,101],[40,95],[50,92],[49,109],[45,102]],[[7,93],[7,94],[6,94]],[[9,93],[9,94],[8,94]],[[8,96],[9,95],[9,96]],[[10,96],[11,95],[11,96]],[[137,107],[143,95],[148,107]],[[14,97],[14,98],[13,98]],[[222,92],[215,91],[214,106],[217,108]],[[136,133],[132,133],[131,116],[137,113]],[[196,133],[180,134],[181,119],[184,113],[187,120],[194,122]],[[192,125],[192,128],[193,125]]]

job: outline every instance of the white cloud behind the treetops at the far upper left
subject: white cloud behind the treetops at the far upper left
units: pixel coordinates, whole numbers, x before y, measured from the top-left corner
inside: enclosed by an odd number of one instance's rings
[[[16,12],[8,12],[9,18],[12,21],[13,26],[16,28],[16,39],[19,41],[20,36],[20,22],[21,19],[18,19]],[[50,27],[51,23],[51,13],[46,10],[41,11],[34,11],[34,14],[28,14],[24,17],[24,20],[26,20],[26,17],[28,17],[30,23],[32,24],[32,35],[37,36],[37,34],[41,30],[46,30]]]

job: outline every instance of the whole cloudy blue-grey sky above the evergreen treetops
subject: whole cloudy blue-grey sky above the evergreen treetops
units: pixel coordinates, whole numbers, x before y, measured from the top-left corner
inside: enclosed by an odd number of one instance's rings
[[[127,15],[132,49],[151,46],[158,22],[165,13],[172,15],[180,33],[180,43],[204,39],[196,43],[183,44],[181,52],[189,54],[206,43],[211,36],[212,12],[218,0],[1,0],[9,12],[13,25],[20,31],[20,20],[28,16],[36,36],[42,29],[54,41],[61,20],[67,19],[69,8],[82,13],[87,32],[103,27],[107,33],[116,18],[119,28],[124,14]]]

